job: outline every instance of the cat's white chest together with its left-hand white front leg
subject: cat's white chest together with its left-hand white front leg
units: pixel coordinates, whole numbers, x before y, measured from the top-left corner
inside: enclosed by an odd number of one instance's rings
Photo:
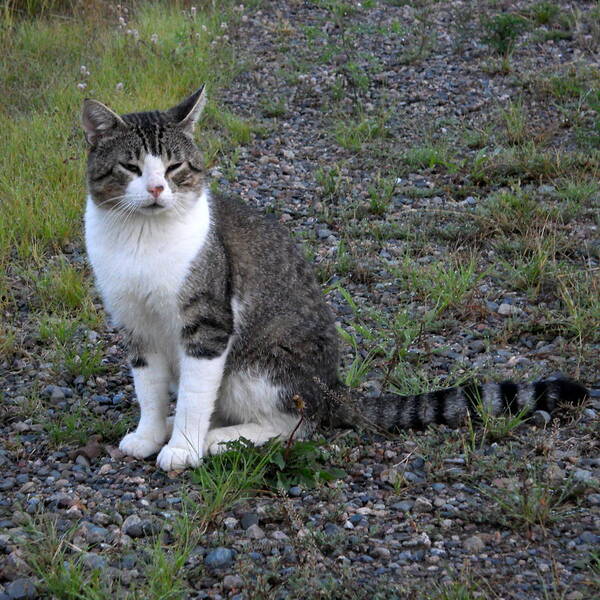
[[[206,241],[209,222],[206,190],[185,215],[173,210],[115,218],[87,201],[87,251],[105,306],[116,325],[149,349],[148,366],[133,369],[140,423],[120,446],[138,458],[153,454],[166,440],[168,385],[179,379],[182,355],[178,292]]]

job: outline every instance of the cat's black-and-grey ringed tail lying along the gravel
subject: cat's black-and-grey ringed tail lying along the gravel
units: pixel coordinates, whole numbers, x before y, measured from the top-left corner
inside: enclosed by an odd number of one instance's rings
[[[468,419],[481,421],[482,415],[522,415],[537,410],[557,413],[565,405],[582,404],[588,390],[566,378],[546,379],[534,383],[479,384],[467,382],[460,386],[418,394],[400,396],[386,393],[378,398],[365,398],[352,393],[336,394],[332,424],[356,427],[364,423],[375,429],[398,431],[424,429],[429,425],[459,427]]]

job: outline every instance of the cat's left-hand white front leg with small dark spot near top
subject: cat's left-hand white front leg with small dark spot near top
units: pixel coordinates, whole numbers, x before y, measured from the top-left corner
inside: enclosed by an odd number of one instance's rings
[[[140,405],[140,421],[119,444],[121,452],[135,458],[147,458],[167,441],[169,410],[169,365],[157,354],[135,356],[131,361],[135,393]]]

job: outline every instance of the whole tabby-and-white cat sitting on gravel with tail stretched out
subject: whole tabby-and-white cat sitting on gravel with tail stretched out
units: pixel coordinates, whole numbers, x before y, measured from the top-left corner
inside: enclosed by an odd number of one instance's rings
[[[166,111],[119,116],[84,102],[87,253],[124,333],[141,412],[122,452],[183,469],[240,437],[259,445],[360,420],[458,426],[477,402],[499,414],[583,400],[566,379],[351,397],[332,311],[287,230],[209,192],[193,138],[205,104],[204,86]]]

